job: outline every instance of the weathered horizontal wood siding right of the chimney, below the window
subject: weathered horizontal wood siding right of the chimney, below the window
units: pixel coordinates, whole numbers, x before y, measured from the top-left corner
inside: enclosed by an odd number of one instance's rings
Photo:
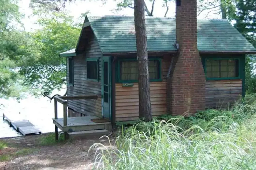
[[[205,104],[208,108],[228,107],[242,95],[242,80],[207,80]]]

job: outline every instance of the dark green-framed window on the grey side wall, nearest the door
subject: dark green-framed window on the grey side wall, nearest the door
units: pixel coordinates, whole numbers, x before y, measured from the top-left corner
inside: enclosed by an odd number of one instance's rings
[[[98,58],[87,58],[87,79],[98,81]]]

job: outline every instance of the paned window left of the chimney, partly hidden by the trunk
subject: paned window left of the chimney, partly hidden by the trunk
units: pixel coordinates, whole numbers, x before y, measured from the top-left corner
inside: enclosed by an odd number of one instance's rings
[[[138,61],[124,59],[118,62],[119,82],[138,82]],[[148,63],[150,81],[161,81],[161,59],[150,59]]]

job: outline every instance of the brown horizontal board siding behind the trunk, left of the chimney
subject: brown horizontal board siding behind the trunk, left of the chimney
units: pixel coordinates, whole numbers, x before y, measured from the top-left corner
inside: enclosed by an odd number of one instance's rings
[[[116,121],[136,120],[139,117],[138,83],[133,87],[122,87],[116,83]],[[166,114],[166,82],[150,82],[152,116]]]

